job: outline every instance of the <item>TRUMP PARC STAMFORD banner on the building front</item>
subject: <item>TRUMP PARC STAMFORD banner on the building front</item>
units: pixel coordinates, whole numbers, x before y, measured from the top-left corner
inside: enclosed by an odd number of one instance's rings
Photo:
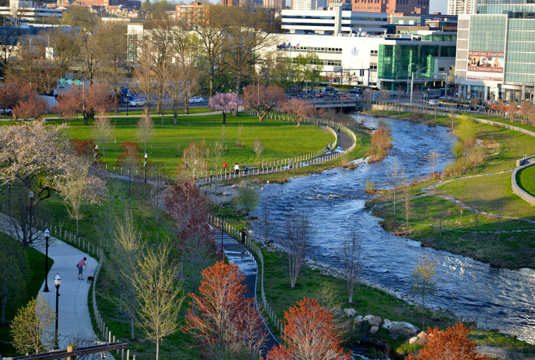
[[[503,82],[505,53],[468,51],[467,79]]]

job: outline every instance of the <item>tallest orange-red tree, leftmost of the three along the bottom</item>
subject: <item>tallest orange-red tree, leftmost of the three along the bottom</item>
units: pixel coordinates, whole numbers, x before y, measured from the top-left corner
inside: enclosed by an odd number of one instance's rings
[[[194,335],[207,359],[259,356],[266,334],[253,300],[244,296],[244,273],[235,264],[217,262],[202,274],[199,295],[189,294],[194,309],[184,330]]]

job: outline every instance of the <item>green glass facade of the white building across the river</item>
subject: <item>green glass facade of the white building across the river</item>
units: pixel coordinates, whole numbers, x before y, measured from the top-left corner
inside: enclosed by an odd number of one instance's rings
[[[377,78],[407,81],[410,71],[426,68],[428,74],[434,72],[435,58],[455,58],[455,45],[425,44],[422,41],[411,41],[408,44],[379,45],[377,61]],[[418,75],[425,77],[425,75]],[[429,75],[433,77],[433,75]],[[391,86],[394,83],[392,83]]]

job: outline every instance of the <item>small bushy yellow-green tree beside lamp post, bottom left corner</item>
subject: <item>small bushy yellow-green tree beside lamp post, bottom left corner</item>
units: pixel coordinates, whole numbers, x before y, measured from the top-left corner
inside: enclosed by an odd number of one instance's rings
[[[18,309],[11,323],[13,345],[21,354],[39,354],[51,349],[56,315],[46,299],[38,296]]]

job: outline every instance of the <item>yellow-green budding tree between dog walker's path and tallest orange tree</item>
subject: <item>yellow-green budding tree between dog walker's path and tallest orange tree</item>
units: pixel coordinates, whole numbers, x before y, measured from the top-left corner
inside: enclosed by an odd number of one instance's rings
[[[137,295],[136,322],[147,338],[156,342],[156,360],[160,356],[160,341],[177,331],[180,307],[184,301],[182,284],[177,281],[179,264],[169,261],[170,248],[160,245],[146,249],[137,258],[137,269],[130,281]]]

